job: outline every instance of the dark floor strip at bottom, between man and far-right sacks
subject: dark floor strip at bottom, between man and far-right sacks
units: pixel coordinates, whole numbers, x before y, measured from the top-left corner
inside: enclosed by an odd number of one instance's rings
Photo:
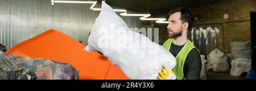
[[[230,76],[229,72],[216,73],[216,72],[205,72],[208,80],[238,80],[239,77]]]

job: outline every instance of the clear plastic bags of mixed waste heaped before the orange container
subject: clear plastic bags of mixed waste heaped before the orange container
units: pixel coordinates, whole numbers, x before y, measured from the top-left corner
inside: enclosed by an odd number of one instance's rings
[[[79,78],[79,71],[70,64],[48,59],[19,57],[7,53],[0,53],[0,69],[2,70],[0,79],[1,76],[2,79],[20,80],[36,79],[35,77],[38,80],[77,80]]]

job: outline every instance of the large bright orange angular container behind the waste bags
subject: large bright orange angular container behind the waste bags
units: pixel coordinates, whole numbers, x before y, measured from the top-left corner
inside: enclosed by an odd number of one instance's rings
[[[128,80],[117,66],[97,52],[84,51],[85,46],[55,30],[48,30],[25,40],[5,53],[36,59],[68,63],[79,70],[80,80]]]

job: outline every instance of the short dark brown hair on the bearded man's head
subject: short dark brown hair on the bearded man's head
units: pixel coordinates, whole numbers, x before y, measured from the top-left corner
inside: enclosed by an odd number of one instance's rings
[[[191,29],[192,23],[194,21],[193,15],[191,13],[191,10],[184,8],[184,7],[176,7],[175,9],[172,9],[169,12],[169,15],[172,15],[174,13],[180,12],[181,17],[180,20],[182,23],[188,22],[188,30]]]

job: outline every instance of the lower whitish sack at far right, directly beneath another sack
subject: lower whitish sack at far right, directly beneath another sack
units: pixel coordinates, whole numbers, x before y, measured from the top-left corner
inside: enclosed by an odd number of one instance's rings
[[[248,72],[251,69],[251,59],[234,59],[231,61],[231,76],[240,76],[243,72]]]

